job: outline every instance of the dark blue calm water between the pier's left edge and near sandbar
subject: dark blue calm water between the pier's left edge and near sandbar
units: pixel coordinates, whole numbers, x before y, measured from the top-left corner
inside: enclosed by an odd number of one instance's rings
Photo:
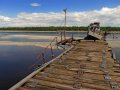
[[[33,46],[0,45],[0,90],[7,90],[34,71],[38,64],[42,65],[42,59],[37,59],[37,56],[43,50],[44,48]],[[58,56],[63,50],[53,52]],[[45,57],[47,61],[52,59],[50,49],[47,50]]]

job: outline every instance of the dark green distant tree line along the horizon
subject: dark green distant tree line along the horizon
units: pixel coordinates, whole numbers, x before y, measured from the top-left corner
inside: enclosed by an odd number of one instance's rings
[[[72,27],[4,27],[0,30],[12,30],[12,31],[57,31],[57,30],[67,30],[67,31],[87,31],[88,27],[72,26]],[[101,27],[102,31],[120,31],[120,27]]]

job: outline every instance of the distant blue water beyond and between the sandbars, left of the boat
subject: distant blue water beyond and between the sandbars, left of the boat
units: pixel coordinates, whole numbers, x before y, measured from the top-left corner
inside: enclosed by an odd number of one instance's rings
[[[60,36],[57,32],[1,32],[0,41],[12,41],[12,42],[49,42],[49,39],[30,39],[24,37],[9,37],[5,38],[6,36],[10,35],[32,35],[32,36]],[[67,32],[67,37],[78,37],[84,38],[86,36],[86,32]]]

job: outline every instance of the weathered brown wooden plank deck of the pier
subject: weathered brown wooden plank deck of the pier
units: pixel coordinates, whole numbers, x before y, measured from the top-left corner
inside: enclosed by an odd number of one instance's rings
[[[104,41],[81,41],[16,90],[120,90],[119,65]]]

